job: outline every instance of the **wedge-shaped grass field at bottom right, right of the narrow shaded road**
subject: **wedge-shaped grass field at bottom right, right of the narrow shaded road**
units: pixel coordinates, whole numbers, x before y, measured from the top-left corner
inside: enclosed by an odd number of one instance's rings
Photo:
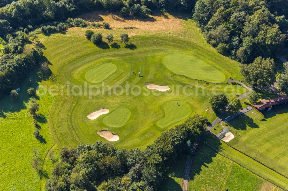
[[[202,145],[193,161],[189,190],[260,190],[264,180]]]

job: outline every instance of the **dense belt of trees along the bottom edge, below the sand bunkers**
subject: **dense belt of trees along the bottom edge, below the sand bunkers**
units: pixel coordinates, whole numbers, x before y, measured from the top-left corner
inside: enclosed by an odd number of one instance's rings
[[[165,164],[190,153],[192,143],[206,131],[208,120],[200,115],[163,132],[144,151],[117,149],[107,142],[62,148],[60,161],[46,182],[54,190],[158,190]]]

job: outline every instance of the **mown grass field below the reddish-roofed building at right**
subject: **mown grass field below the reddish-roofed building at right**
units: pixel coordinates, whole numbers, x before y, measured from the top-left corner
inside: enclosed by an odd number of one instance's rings
[[[283,145],[288,136],[284,122],[288,118],[288,107],[273,109],[265,117],[262,120],[262,116],[252,111],[232,120],[230,124],[235,138],[229,145],[251,157],[259,151],[257,160],[288,176],[288,147]]]

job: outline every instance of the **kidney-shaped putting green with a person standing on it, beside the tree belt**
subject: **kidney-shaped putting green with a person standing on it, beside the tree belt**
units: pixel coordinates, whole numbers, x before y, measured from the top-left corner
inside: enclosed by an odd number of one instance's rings
[[[190,105],[181,101],[177,105],[176,102],[169,101],[164,104],[163,110],[165,116],[156,122],[158,127],[167,127],[190,116],[192,113]]]

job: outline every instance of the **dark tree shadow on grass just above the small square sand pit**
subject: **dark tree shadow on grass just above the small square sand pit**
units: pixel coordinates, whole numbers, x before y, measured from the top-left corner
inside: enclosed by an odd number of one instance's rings
[[[236,130],[246,130],[247,127],[259,128],[254,120],[246,114],[242,114],[239,117],[231,120],[229,124]]]

